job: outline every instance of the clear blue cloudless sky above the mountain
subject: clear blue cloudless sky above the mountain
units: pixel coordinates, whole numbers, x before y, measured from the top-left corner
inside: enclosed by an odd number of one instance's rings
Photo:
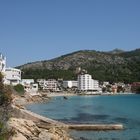
[[[115,48],[140,48],[140,0],[0,0],[7,66]]]

